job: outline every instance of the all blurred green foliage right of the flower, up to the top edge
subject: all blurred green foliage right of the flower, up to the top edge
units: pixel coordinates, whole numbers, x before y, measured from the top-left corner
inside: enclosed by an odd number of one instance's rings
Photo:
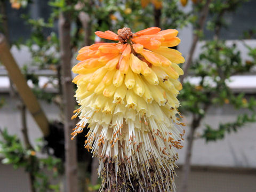
[[[246,123],[255,122],[256,100],[251,97],[249,101],[245,94],[234,93],[228,83],[231,82],[231,76],[251,73],[256,66],[256,49],[243,43],[244,51],[250,56],[250,60],[244,60],[241,51],[237,49],[237,42],[232,45],[224,39],[220,39],[220,30],[228,28],[228,22],[225,18],[226,13],[235,12],[244,1],[212,1],[210,4],[210,17],[206,22],[207,30],[214,33],[213,39],[205,41],[201,47],[199,57],[195,59],[189,69],[191,77],[199,79],[197,85],[189,80],[183,83],[183,90],[180,94],[182,103],[181,110],[189,112],[193,117],[191,127],[197,129],[205,117],[207,110],[213,107],[227,107],[231,105],[235,110],[247,109],[247,113],[239,113],[234,122],[209,125],[205,123],[204,133],[201,135],[206,141],[215,141],[223,139],[226,133],[237,131],[239,127]],[[195,10],[201,10],[205,1],[195,5]],[[198,23],[194,23],[195,28]],[[197,31],[195,31],[197,33]],[[198,34],[204,39],[204,34]],[[242,35],[242,34],[241,34]],[[243,110],[246,111],[246,110]]]

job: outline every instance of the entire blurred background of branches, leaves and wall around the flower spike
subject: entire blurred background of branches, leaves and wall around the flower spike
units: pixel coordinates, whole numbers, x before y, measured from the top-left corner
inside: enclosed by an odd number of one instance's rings
[[[99,189],[86,131],[70,140],[71,67],[81,47],[105,41],[94,31],[153,26],[178,29],[172,48],[186,58],[176,191],[256,191],[255,9],[254,0],[0,0],[0,191]]]

